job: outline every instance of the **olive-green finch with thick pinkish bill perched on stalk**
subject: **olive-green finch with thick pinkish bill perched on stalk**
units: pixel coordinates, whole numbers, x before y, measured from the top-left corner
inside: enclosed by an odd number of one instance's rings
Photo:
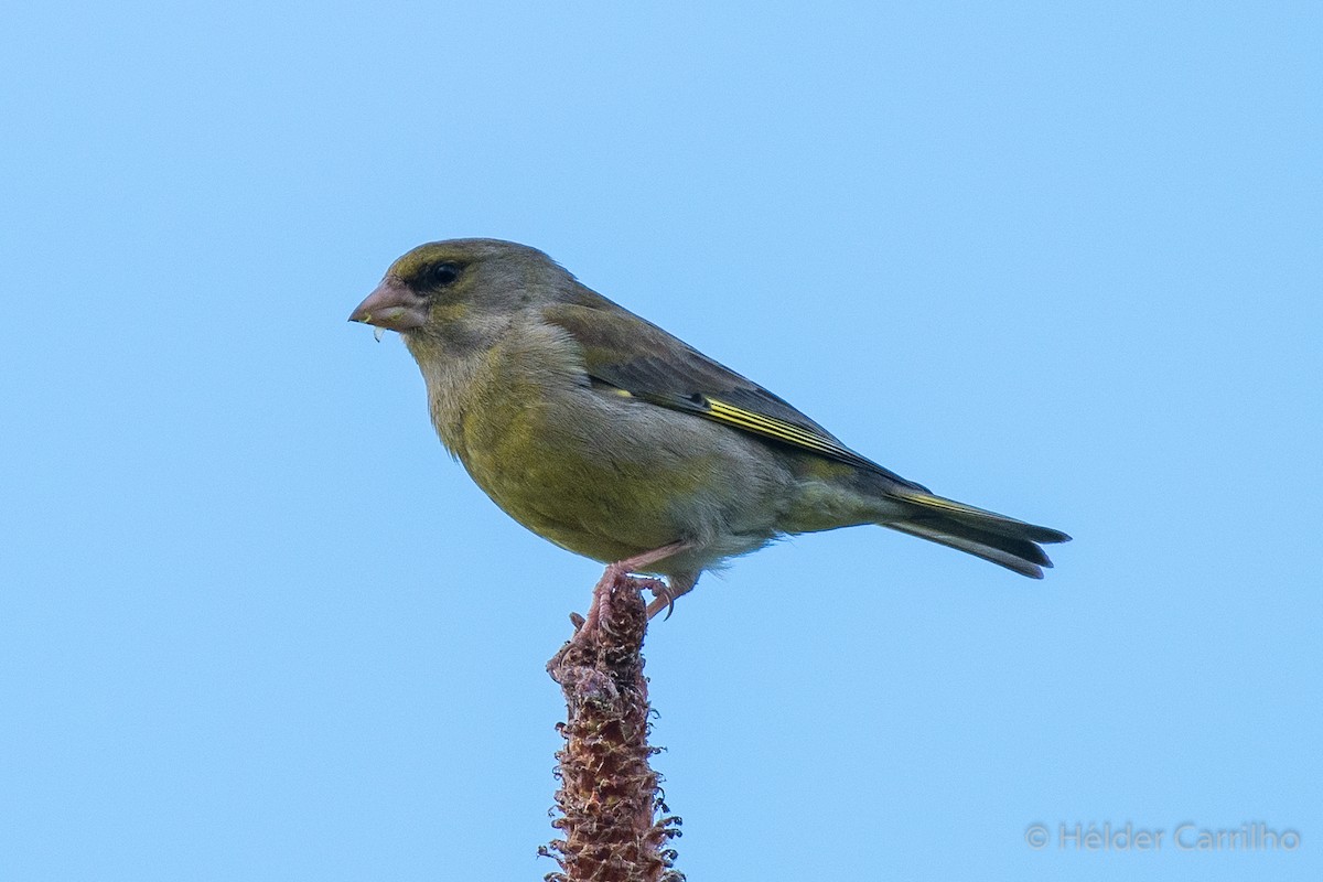
[[[607,575],[664,577],[650,619],[800,533],[875,524],[1031,578],[1070,540],[878,465],[527,245],[421,245],[349,320],[400,333],[442,444],[515,521]]]

